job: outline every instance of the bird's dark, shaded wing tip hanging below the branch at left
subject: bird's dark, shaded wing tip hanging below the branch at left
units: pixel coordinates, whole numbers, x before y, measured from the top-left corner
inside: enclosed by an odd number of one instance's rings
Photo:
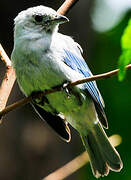
[[[67,121],[63,117],[47,112],[37,104],[33,103],[32,106],[38,115],[44,119],[63,140],[66,142],[70,141],[70,128],[68,127]]]

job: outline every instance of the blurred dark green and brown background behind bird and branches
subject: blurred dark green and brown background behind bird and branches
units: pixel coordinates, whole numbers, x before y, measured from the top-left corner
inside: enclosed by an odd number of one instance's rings
[[[0,43],[10,56],[13,48],[13,18],[23,9],[46,5],[58,9],[62,0],[28,0],[0,2]],[[131,17],[130,0],[83,0],[67,14],[70,22],[60,32],[72,36],[83,48],[84,57],[93,74],[117,68],[121,53],[120,38]],[[0,61],[0,82],[5,66]],[[110,172],[104,179],[131,179],[131,72],[118,82],[117,76],[97,82],[106,104],[108,136],[120,134],[117,147],[124,167],[120,173]],[[9,104],[24,97],[17,83]],[[0,180],[40,180],[84,151],[80,137],[71,128],[72,141],[67,144],[41,121],[30,105],[4,117],[0,125]],[[89,164],[66,178],[95,180]]]

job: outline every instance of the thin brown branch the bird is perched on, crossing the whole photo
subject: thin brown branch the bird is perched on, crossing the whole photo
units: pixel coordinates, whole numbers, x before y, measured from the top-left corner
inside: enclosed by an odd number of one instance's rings
[[[131,69],[131,64],[126,66],[126,69],[130,70]],[[107,72],[107,73],[98,74],[98,75],[94,75],[94,76],[91,76],[91,77],[87,77],[87,78],[77,80],[75,82],[71,82],[70,84],[68,84],[64,88],[62,86],[59,86],[59,87],[56,87],[56,88],[53,88],[53,89],[50,89],[50,90],[46,90],[46,91],[43,91],[43,92],[36,93],[33,96],[31,95],[29,97],[26,97],[26,98],[20,100],[20,101],[17,101],[14,104],[11,104],[11,105],[7,106],[5,109],[3,109],[0,112],[0,117],[2,117],[3,115],[7,114],[8,112],[10,112],[10,111],[22,106],[22,105],[25,105],[25,104],[31,102],[32,99],[41,98],[41,97],[43,97],[43,96],[45,96],[47,94],[51,94],[51,93],[54,93],[54,92],[57,92],[57,91],[61,91],[62,88],[66,89],[68,87],[73,87],[73,86],[76,86],[78,84],[82,84],[82,83],[85,83],[85,82],[109,78],[109,77],[112,77],[113,75],[116,75],[118,73],[118,71],[119,71],[119,69],[116,69],[116,70],[113,70],[113,71],[110,71],[110,72]]]

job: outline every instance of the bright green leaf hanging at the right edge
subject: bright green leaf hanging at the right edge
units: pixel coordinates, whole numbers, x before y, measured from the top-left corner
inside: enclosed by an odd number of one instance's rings
[[[131,63],[131,19],[128,22],[127,27],[121,37],[121,49],[122,54],[119,58],[119,73],[118,79],[122,81],[126,75],[125,66]]]

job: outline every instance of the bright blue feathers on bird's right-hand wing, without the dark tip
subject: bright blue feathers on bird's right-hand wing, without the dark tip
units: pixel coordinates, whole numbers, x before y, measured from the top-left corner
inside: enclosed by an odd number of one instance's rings
[[[64,50],[64,61],[70,68],[83,74],[84,77],[90,77],[92,75],[82,56],[77,56],[68,50]],[[87,82],[84,85],[85,89],[87,89],[94,101],[97,102],[103,110],[103,102],[101,101],[100,93],[97,89],[95,81]]]

